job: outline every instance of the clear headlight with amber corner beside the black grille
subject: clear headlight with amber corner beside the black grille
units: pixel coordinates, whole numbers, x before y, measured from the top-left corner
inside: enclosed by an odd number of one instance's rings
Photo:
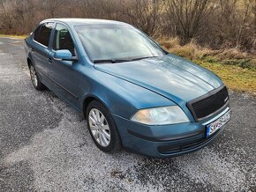
[[[189,122],[183,110],[178,106],[141,109],[132,116],[132,121],[147,125],[166,125]]]

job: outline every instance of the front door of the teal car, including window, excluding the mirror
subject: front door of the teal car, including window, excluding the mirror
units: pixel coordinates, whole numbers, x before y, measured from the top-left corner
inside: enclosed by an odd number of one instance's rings
[[[50,49],[51,63],[49,63],[49,79],[53,89],[72,107],[79,107],[79,61],[59,61],[54,59],[56,50],[68,49],[73,56],[76,55],[72,33],[68,26],[57,23],[54,30],[52,48]]]

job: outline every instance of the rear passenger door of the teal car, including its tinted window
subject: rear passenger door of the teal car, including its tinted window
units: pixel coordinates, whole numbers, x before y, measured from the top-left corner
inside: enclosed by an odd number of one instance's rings
[[[32,56],[35,69],[43,81],[47,81],[49,68],[49,41],[55,23],[43,23],[34,31]]]

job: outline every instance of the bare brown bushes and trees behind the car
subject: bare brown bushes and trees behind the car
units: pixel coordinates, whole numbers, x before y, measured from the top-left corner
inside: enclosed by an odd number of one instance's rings
[[[0,0],[0,33],[30,33],[44,18],[115,19],[154,38],[256,48],[256,0]]]

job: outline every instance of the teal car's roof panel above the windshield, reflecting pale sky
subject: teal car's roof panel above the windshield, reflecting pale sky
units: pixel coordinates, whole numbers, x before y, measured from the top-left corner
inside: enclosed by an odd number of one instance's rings
[[[96,19],[96,18],[48,18],[44,22],[63,22],[69,26],[81,26],[81,25],[128,25],[124,22],[107,19]]]

